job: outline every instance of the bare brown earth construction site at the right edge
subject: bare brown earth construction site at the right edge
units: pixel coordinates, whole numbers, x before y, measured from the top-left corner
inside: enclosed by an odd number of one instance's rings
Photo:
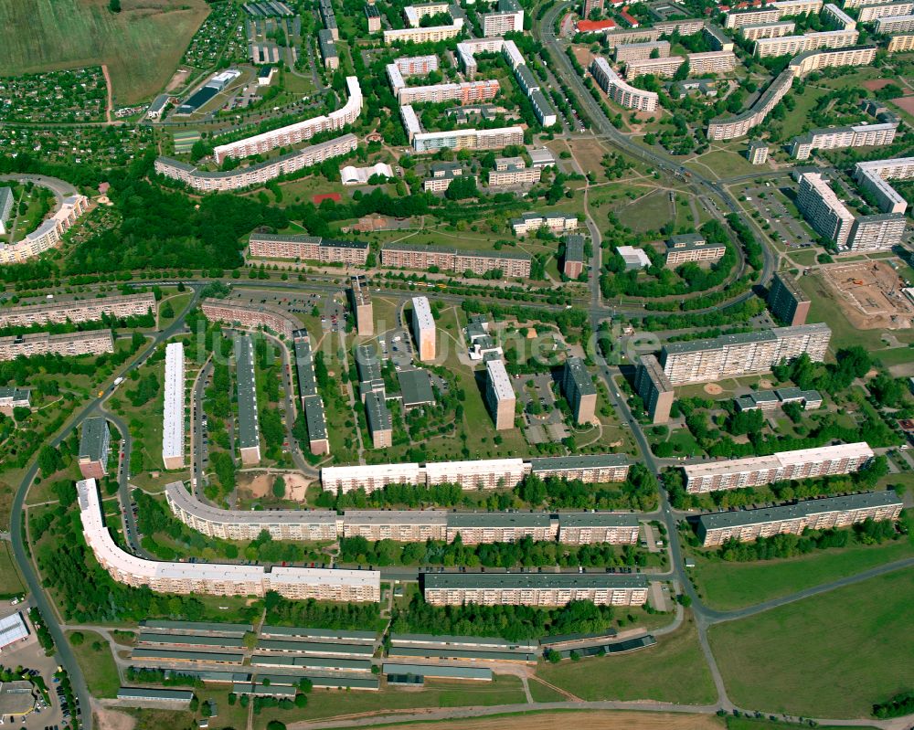
[[[914,326],[914,302],[887,261],[836,263],[820,271],[834,300],[857,329],[903,330]]]

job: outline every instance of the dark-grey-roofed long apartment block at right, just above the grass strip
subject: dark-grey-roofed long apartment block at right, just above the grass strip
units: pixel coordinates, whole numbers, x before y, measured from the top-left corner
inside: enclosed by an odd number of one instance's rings
[[[748,543],[776,534],[802,534],[806,529],[831,530],[866,520],[894,521],[903,507],[893,490],[844,494],[756,510],[702,514],[697,534],[705,547],[723,545],[728,540]]]

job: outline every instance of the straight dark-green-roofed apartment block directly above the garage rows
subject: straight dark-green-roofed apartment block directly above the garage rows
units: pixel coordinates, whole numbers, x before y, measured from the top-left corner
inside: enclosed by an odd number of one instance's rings
[[[647,577],[610,573],[427,573],[431,606],[564,606],[590,600],[598,606],[643,606]]]

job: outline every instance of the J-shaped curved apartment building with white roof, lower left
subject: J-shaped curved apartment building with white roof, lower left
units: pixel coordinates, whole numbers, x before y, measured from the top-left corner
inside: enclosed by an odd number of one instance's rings
[[[375,570],[326,570],[218,563],[169,563],[145,560],[115,544],[104,524],[94,479],[78,481],[82,534],[101,567],[119,583],[150,587],[158,593],[204,593],[215,596],[265,596],[274,590],[293,600],[349,603],[380,600],[380,573]]]

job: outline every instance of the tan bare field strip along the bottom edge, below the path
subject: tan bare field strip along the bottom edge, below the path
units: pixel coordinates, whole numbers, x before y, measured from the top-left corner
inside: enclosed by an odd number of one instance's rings
[[[385,730],[416,730],[423,724],[386,725]],[[433,725],[442,725],[441,722]],[[501,717],[479,717],[448,720],[448,730],[555,730],[577,725],[587,730],[721,730],[715,715],[678,713],[629,713],[615,711],[583,711],[576,713],[517,714]]]

